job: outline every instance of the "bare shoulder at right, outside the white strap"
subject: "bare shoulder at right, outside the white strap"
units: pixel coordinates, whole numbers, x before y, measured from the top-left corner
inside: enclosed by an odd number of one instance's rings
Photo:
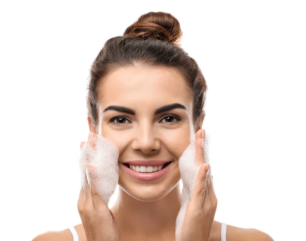
[[[226,227],[226,241],[274,241],[267,233],[254,228]]]

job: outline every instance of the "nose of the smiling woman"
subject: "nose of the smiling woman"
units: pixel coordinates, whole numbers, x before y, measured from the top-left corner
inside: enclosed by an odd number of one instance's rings
[[[132,143],[134,150],[141,150],[143,153],[149,154],[160,149],[160,142],[156,137],[154,127],[140,127],[135,131],[135,137]]]

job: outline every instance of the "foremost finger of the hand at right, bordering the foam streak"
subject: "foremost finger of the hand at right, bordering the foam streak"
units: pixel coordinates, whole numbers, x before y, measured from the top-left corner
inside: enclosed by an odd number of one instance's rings
[[[190,202],[193,203],[196,208],[202,208],[204,204],[205,199],[205,193],[206,193],[206,177],[207,172],[206,168],[209,166],[209,164],[202,164],[200,166],[198,176],[195,182],[194,190],[191,195]]]

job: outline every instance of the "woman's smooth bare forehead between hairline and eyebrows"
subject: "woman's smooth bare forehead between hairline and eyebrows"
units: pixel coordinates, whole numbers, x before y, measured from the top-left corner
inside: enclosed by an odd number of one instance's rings
[[[192,103],[183,76],[167,67],[122,67],[103,79],[99,103],[137,108],[155,108],[181,103],[191,110]]]

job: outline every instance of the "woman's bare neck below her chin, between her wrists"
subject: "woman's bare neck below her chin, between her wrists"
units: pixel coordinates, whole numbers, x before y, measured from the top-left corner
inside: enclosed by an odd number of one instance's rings
[[[173,236],[181,201],[180,184],[164,198],[152,202],[139,201],[119,188],[118,199],[111,211],[122,236]]]

